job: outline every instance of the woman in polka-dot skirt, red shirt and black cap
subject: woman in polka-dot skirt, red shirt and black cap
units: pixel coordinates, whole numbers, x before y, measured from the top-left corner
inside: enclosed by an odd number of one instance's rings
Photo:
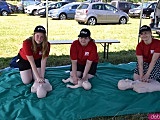
[[[151,28],[144,25],[139,30],[141,42],[136,47],[137,66],[134,80],[149,82],[160,80],[160,40],[152,37]]]

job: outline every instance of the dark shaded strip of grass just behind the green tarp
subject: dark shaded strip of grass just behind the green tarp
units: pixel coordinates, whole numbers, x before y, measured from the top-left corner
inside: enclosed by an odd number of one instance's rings
[[[99,63],[110,62],[112,64],[128,63],[136,61],[135,50],[120,51],[120,52],[109,52],[109,58],[103,58],[103,52],[99,52]],[[13,56],[14,57],[14,56]],[[9,63],[12,57],[0,58],[0,69],[9,67]],[[69,65],[69,55],[50,55],[47,61],[47,67]]]

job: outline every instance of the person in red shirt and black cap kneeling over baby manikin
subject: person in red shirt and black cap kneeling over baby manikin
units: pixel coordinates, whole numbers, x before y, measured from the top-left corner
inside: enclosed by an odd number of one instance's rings
[[[72,63],[70,75],[74,84],[78,83],[79,78],[83,82],[88,82],[88,79],[96,74],[99,57],[97,46],[90,35],[88,29],[82,29],[78,35],[78,40],[75,40],[70,48]]]

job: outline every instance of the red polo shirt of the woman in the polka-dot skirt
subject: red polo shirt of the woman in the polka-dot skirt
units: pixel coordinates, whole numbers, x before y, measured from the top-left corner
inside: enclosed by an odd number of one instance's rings
[[[136,55],[143,56],[143,61],[150,63],[153,53],[160,53],[160,40],[152,39],[148,45],[143,40],[136,47]]]

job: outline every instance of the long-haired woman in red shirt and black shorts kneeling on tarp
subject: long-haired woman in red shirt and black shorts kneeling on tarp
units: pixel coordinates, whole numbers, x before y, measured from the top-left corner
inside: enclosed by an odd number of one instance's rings
[[[45,28],[36,26],[33,36],[23,41],[16,61],[24,84],[29,84],[33,79],[44,82],[49,51],[50,43]]]

